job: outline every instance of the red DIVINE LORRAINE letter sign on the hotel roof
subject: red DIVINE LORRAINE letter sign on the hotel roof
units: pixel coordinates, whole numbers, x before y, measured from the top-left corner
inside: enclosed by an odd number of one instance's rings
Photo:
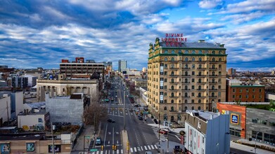
[[[186,42],[187,38],[184,38],[184,34],[165,34],[165,38],[161,38],[162,42],[165,42],[167,46],[181,46],[182,42]]]

